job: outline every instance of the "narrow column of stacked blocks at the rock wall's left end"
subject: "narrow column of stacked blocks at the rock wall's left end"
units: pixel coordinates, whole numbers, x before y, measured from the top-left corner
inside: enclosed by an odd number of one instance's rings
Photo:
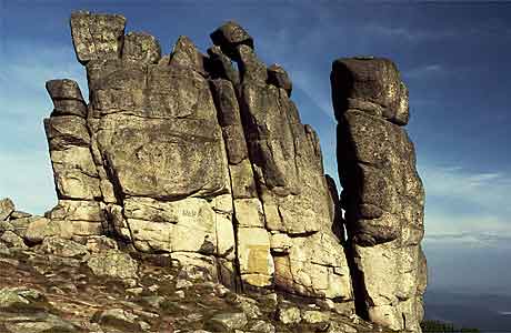
[[[48,81],[47,90],[54,109],[44,119],[44,130],[59,200],[48,218],[66,221],[78,236],[101,234],[102,193],[91,153],[87,104],[74,81]]]

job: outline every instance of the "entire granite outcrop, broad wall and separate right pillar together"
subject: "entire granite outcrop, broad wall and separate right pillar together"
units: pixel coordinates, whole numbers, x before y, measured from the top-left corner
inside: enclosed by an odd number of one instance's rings
[[[184,36],[162,54],[152,36],[124,26],[121,16],[72,13],[89,100],[72,80],[47,82],[59,203],[27,218],[19,236],[107,235],[236,291],[279,291],[420,332],[423,190],[394,64],[333,63],[340,200],[288,73],[258,58],[243,28],[218,28],[207,54]],[[2,201],[0,220],[12,212]]]

